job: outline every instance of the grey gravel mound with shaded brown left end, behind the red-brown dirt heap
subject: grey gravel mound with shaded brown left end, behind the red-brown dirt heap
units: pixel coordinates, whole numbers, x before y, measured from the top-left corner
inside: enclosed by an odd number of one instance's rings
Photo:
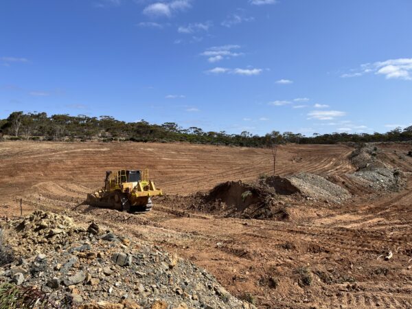
[[[284,178],[271,176],[265,182],[275,188],[277,194],[282,195],[299,193],[314,198],[314,200],[332,203],[342,203],[351,196],[343,187],[335,185],[321,176],[308,173],[294,174]]]

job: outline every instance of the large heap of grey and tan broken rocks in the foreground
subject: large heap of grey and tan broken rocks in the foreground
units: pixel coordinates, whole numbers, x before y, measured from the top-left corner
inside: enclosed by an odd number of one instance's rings
[[[56,304],[69,299],[96,308],[253,308],[207,271],[159,247],[92,223],[35,211],[2,225],[16,262],[0,268],[2,282],[38,286]]]

